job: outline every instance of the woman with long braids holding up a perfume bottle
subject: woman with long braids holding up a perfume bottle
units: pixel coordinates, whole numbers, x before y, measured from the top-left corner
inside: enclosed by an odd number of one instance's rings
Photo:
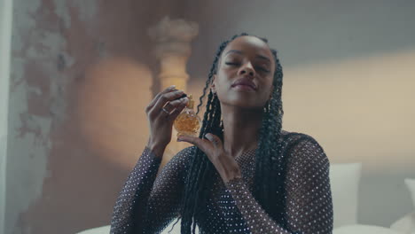
[[[183,91],[161,91],[146,108],[151,136],[118,198],[111,233],[332,233],[329,160],[309,135],[282,130],[282,67],[267,40],[235,35],[208,75],[200,137],[156,177]],[[198,113],[199,107],[198,105]],[[178,221],[178,220],[177,220]]]

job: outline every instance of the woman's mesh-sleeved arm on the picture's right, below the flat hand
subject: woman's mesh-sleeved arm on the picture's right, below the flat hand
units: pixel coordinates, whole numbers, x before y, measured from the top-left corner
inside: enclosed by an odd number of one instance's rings
[[[333,232],[333,201],[329,160],[308,137],[288,153],[286,228],[270,218],[241,178],[225,183],[252,233],[328,234]]]

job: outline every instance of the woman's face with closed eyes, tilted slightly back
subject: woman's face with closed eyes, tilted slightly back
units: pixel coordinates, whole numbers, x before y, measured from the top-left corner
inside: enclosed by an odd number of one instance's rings
[[[239,36],[223,50],[212,90],[222,105],[262,109],[274,89],[274,70],[266,43],[254,36]]]

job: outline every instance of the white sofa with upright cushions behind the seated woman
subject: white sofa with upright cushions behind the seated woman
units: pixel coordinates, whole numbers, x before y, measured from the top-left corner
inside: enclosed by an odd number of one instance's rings
[[[415,234],[415,213],[405,215],[390,228],[357,223],[357,198],[361,172],[361,163],[332,164],[330,168],[334,210],[333,234]],[[415,180],[406,179],[405,183],[408,188],[412,188],[410,191],[415,205]],[[173,223],[171,222],[162,233],[167,234]],[[104,234],[109,233],[109,230],[109,226],[104,226],[84,230],[78,234]],[[176,223],[170,234],[180,234],[180,222]]]

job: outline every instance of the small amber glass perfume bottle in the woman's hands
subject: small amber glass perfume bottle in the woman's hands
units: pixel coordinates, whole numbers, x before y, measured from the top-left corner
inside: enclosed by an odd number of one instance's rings
[[[182,113],[176,117],[176,120],[173,122],[173,126],[177,130],[178,136],[196,136],[198,130],[200,129],[200,118],[193,111],[194,101],[192,99],[192,94],[190,94],[189,102]]]

